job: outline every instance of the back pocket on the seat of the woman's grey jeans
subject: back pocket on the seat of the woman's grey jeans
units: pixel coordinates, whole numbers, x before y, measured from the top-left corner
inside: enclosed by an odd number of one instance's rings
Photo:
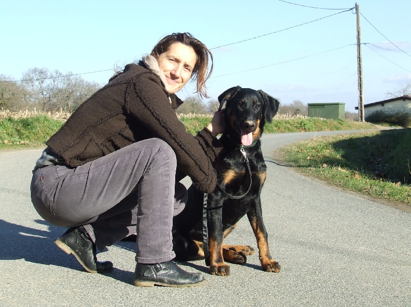
[[[48,166],[36,170],[31,179],[31,202],[39,215],[48,222],[54,219],[53,196],[59,177],[55,174],[54,166]]]

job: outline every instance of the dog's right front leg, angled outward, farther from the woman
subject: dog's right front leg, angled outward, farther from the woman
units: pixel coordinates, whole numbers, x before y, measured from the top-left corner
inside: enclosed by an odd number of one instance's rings
[[[264,226],[259,198],[256,199],[255,203],[247,213],[247,217],[257,240],[261,267],[263,267],[263,270],[266,272],[278,273],[281,266],[271,257],[270,249],[268,248],[268,234],[266,227]]]

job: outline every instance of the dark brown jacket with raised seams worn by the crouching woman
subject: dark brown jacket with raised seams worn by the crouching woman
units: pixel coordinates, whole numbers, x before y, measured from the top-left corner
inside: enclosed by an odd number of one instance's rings
[[[143,66],[141,62],[126,65],[122,74],[80,105],[46,144],[67,165],[77,167],[157,137],[176,153],[177,179],[188,175],[199,190],[211,193],[217,182],[211,162],[222,150],[220,141],[206,128],[195,137],[186,132],[175,112],[182,101],[167,94],[160,78]]]

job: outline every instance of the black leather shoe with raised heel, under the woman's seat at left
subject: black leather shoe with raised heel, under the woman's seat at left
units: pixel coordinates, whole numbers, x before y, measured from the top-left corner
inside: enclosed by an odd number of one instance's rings
[[[90,273],[105,273],[113,270],[113,263],[110,261],[97,261],[96,244],[88,237],[83,226],[69,228],[54,243],[67,254],[73,254]]]

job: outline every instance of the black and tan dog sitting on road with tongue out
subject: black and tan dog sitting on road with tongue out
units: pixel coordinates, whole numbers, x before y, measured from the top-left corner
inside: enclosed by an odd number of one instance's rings
[[[245,263],[247,256],[254,253],[248,245],[223,244],[223,238],[247,214],[257,240],[263,270],[279,272],[280,265],[271,258],[268,248],[260,202],[267,169],[260,136],[265,121],[272,122],[278,110],[278,101],[263,91],[239,86],[223,92],[218,100],[220,109],[225,104],[226,131],[220,138],[225,150],[213,163],[219,183],[207,200],[209,248],[204,253],[203,194],[191,186],[186,207],[173,221],[176,259],[190,261],[206,258],[211,274],[230,275],[230,266],[225,261]]]

